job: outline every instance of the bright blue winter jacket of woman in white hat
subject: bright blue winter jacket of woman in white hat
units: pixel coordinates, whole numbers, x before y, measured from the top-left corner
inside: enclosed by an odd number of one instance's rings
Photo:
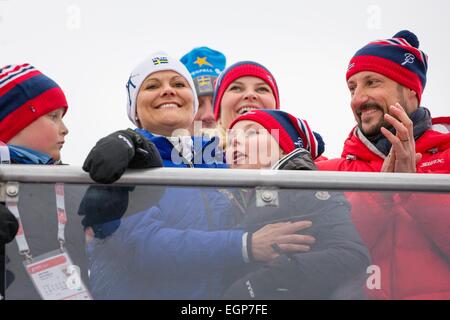
[[[187,166],[171,161],[173,145],[165,137],[137,131],[158,147],[164,166]],[[210,144],[202,141],[196,152]],[[193,166],[225,167],[220,161]],[[220,298],[226,271],[245,265],[244,231],[230,229],[236,214],[216,189],[167,188],[157,206],[128,216],[111,236],[89,244],[92,294],[96,299]]]

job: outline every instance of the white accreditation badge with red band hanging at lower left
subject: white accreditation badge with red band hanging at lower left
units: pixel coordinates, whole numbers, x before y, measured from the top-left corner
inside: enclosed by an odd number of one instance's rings
[[[92,300],[75,266],[65,250],[56,250],[24,261],[25,269],[44,300]]]

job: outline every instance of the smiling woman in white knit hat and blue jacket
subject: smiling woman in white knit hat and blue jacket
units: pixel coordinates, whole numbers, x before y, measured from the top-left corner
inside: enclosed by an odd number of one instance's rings
[[[126,87],[128,117],[138,128],[115,132],[97,143],[83,167],[94,180],[112,182],[127,167],[161,166],[161,158],[165,167],[225,167],[222,155],[216,160],[212,153],[208,161],[204,154],[215,139],[186,135],[198,102],[192,78],[178,60],[163,53],[151,55],[133,70]],[[102,205],[102,199],[94,201]],[[101,210],[94,211],[83,214],[98,215]],[[95,220],[99,219],[91,219]],[[219,298],[225,269],[273,259],[272,244],[289,248],[301,243],[303,238],[295,232],[305,227],[297,222],[254,233],[231,229],[236,212],[227,196],[193,187],[167,188],[157,206],[119,222],[120,228],[116,224],[109,234],[109,222],[92,226],[94,233],[102,231],[95,234],[89,250],[95,298]],[[287,251],[298,250],[293,245]]]

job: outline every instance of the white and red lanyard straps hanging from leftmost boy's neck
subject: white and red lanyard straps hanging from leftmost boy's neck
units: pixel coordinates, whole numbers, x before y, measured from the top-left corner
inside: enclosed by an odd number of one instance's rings
[[[2,164],[10,163],[9,149],[6,144],[0,141],[0,156]],[[18,186],[17,186],[18,188]],[[64,250],[64,244],[66,242],[65,228],[67,224],[66,205],[64,201],[64,184],[55,184],[56,195],[56,217],[58,220],[58,242],[61,250]],[[16,190],[15,195],[6,194],[6,207],[12,212],[19,223],[19,231],[16,235],[16,243],[19,248],[19,254],[26,257],[27,260],[32,260],[30,247],[27,242],[25,230],[23,228],[22,219],[19,212],[19,192]]]

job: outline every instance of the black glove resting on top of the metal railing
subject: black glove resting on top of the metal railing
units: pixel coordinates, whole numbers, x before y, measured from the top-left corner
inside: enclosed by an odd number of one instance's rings
[[[158,149],[131,129],[100,139],[83,164],[83,170],[89,172],[92,180],[105,184],[118,180],[127,168],[155,167],[162,167]]]

